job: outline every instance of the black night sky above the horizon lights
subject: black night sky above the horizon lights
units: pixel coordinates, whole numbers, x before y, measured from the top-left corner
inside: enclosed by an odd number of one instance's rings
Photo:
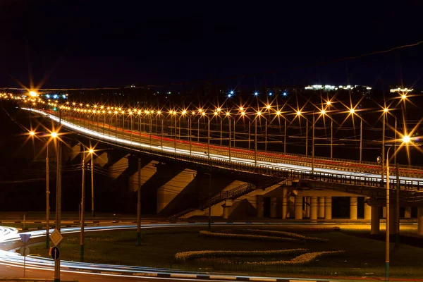
[[[250,74],[242,80],[418,86],[423,44],[315,65],[423,40],[420,2],[1,0],[0,87],[29,85],[29,66],[36,84],[49,75],[43,87]]]

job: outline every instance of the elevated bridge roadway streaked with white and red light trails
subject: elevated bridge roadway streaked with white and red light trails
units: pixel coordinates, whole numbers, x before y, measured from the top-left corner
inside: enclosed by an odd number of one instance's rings
[[[52,120],[59,122],[59,118],[47,114],[44,111],[37,109],[27,109],[34,111],[37,114],[47,116]],[[76,118],[61,119],[61,124],[70,130],[73,130],[84,135],[92,136],[106,142],[114,142],[116,144],[134,147],[136,149],[152,149],[166,153],[177,153],[185,156],[202,157],[207,162],[207,144],[189,142],[186,140],[174,140],[172,138],[156,135],[149,135],[147,133],[140,133],[138,131],[126,130],[123,128],[114,128],[111,125],[93,124],[88,121],[78,121]],[[163,142],[163,145],[161,144]],[[176,144],[176,147],[175,147]],[[210,159],[214,160],[229,160],[228,147],[221,147],[210,145]],[[231,149],[231,161],[238,164],[247,164],[255,166],[255,152],[248,149]],[[296,171],[303,171],[310,173],[311,158],[301,157],[288,154],[276,154],[271,152],[257,152],[257,165],[268,168],[275,168],[279,170],[293,169]],[[314,159],[314,171],[319,173],[328,173],[353,177],[357,179],[373,178],[381,179],[380,166],[373,163],[359,163],[357,161],[348,160],[331,160],[331,159]],[[400,170],[400,183],[414,183],[423,186],[423,170],[422,168],[416,169],[415,167],[403,166]],[[404,176],[405,175],[405,176]],[[410,176],[409,176],[410,175]],[[395,178],[391,179],[393,183],[396,182]]]

